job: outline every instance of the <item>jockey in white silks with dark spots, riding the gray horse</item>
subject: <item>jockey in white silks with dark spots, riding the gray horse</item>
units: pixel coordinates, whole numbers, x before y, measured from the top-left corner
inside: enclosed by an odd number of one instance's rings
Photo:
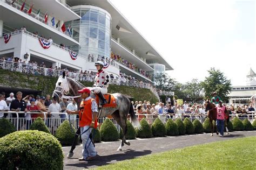
[[[109,87],[110,76],[109,73],[103,70],[104,63],[102,61],[97,61],[95,63],[95,66],[98,70],[98,73],[96,74],[95,83],[93,84],[92,90],[95,91],[95,94],[99,96],[103,105],[107,103],[103,95],[107,93],[107,87]]]

